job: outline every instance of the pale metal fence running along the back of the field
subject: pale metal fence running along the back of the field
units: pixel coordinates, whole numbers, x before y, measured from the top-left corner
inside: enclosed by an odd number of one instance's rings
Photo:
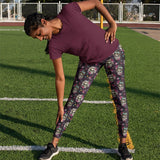
[[[67,3],[0,3],[0,22],[24,21],[35,12],[55,17]],[[142,3],[104,3],[117,22],[160,22],[160,4]],[[96,9],[83,12],[93,21],[100,20]]]

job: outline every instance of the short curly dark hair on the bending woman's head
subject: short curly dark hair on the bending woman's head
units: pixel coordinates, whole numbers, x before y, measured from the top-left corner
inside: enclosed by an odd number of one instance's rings
[[[45,19],[45,16],[41,13],[33,13],[27,16],[24,23],[24,30],[28,36],[31,35],[32,31],[38,29],[39,26],[42,26],[41,19]]]

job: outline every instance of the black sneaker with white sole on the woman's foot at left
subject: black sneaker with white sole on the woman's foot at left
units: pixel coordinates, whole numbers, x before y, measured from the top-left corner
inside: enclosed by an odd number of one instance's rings
[[[39,160],[51,160],[58,153],[58,148],[54,148],[52,143],[48,143],[47,148],[41,153]]]

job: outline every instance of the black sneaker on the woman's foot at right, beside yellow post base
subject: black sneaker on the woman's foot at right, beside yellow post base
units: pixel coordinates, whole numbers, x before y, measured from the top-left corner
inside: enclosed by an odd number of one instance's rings
[[[118,154],[121,157],[121,160],[133,160],[133,157],[129,153],[127,145],[125,143],[119,145]]]

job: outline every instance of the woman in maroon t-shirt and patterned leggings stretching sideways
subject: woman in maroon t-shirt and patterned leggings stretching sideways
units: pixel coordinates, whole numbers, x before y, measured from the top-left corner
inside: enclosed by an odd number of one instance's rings
[[[96,8],[108,21],[107,31],[93,24],[81,12]],[[99,0],[72,2],[63,7],[54,19],[46,20],[42,14],[27,17],[24,25],[27,35],[39,40],[48,40],[48,51],[55,69],[58,100],[56,129],[52,143],[40,155],[40,160],[50,160],[58,154],[57,144],[63,131],[81,105],[91,83],[104,66],[108,75],[113,100],[117,109],[122,160],[132,160],[126,146],[128,129],[128,106],[124,82],[124,51],[115,38],[117,25]],[[62,54],[79,56],[79,65],[67,103],[63,106],[65,76]],[[119,87],[119,84],[123,87]],[[123,103],[122,103],[123,99]],[[125,100],[125,103],[124,103]]]

